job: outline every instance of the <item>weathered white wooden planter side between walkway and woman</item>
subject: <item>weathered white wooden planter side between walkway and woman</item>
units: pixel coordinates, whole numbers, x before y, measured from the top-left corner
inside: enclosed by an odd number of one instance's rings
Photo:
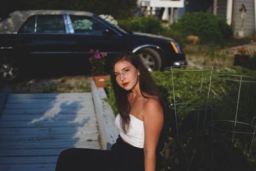
[[[107,98],[104,89],[97,88],[94,81],[91,82],[91,85],[102,146],[103,149],[110,150],[119,134],[115,126],[115,115],[111,106],[103,100],[103,98]]]

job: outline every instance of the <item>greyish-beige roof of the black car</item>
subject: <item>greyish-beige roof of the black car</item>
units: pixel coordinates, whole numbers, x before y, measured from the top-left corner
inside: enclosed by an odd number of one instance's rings
[[[74,10],[26,10],[13,11],[9,17],[0,22],[0,33],[17,33],[20,26],[32,15],[84,15],[92,17],[93,13]]]

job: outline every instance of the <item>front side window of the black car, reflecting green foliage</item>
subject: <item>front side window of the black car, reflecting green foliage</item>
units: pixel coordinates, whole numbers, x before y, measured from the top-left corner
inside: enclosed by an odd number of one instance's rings
[[[70,15],[75,34],[102,35],[107,26],[92,17]]]

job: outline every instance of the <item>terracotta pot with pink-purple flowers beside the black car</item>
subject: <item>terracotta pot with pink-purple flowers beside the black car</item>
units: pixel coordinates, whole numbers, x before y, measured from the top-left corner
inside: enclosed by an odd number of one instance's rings
[[[106,52],[99,52],[99,50],[90,50],[91,56],[89,58],[92,64],[92,77],[97,87],[106,87],[106,80],[109,75],[105,70],[105,57],[108,55]]]

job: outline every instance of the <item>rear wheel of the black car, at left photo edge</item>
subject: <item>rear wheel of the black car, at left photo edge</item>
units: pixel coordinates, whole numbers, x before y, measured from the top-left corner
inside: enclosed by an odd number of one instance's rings
[[[14,80],[19,75],[17,61],[12,57],[3,57],[0,61],[0,77],[6,81]]]

